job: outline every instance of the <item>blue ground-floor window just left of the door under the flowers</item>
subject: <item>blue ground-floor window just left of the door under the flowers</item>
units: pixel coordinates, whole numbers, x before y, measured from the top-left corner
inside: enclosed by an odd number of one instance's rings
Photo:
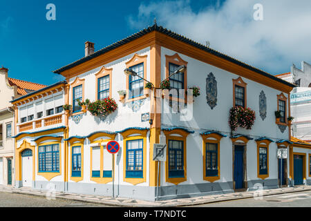
[[[218,175],[218,144],[205,144],[206,150],[206,176],[217,176]]]

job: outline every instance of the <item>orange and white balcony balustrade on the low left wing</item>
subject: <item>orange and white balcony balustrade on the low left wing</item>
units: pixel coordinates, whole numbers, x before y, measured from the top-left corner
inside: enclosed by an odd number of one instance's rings
[[[30,131],[37,128],[42,128],[46,126],[53,126],[56,124],[64,123],[64,113],[58,115],[50,115],[40,119],[33,119],[30,122],[17,124],[17,133],[21,133],[24,131]]]

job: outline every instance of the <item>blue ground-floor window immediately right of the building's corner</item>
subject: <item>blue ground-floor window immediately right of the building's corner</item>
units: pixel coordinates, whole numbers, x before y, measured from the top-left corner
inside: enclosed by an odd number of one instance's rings
[[[184,142],[169,140],[169,177],[184,177]]]

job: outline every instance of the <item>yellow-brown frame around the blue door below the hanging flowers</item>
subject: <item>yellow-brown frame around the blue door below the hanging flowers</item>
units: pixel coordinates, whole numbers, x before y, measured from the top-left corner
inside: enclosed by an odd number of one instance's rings
[[[244,137],[243,137],[244,138]],[[240,139],[242,142],[236,142],[232,139],[232,188],[235,192],[242,192],[247,190],[247,142],[248,140]],[[246,142],[245,142],[246,141]],[[236,146],[243,146],[243,188],[236,189],[236,182],[234,181],[234,155]]]

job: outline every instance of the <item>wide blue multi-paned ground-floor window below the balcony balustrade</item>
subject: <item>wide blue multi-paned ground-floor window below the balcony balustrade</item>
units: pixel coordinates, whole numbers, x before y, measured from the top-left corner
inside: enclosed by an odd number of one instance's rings
[[[59,172],[59,144],[39,146],[39,172]]]

